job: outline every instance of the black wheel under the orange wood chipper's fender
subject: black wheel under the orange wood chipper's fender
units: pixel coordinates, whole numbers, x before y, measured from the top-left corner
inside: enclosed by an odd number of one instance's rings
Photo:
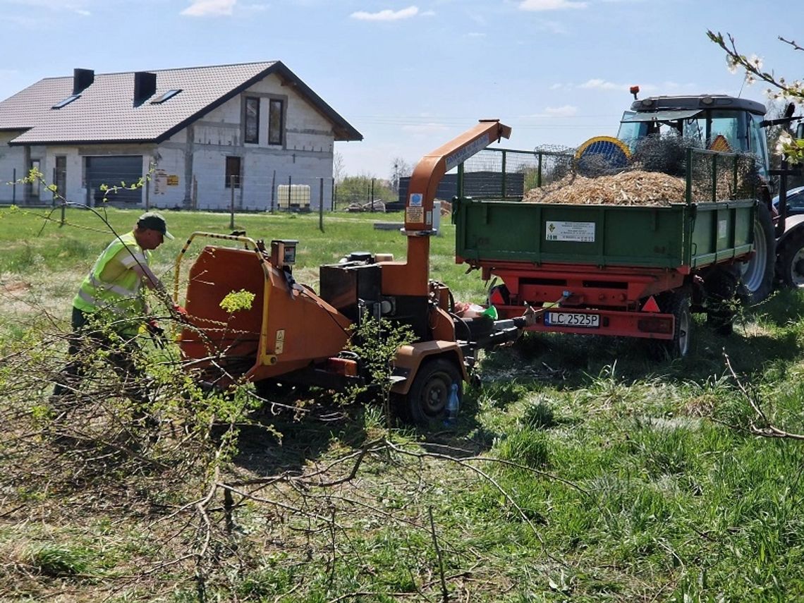
[[[453,361],[436,358],[422,363],[408,392],[408,414],[415,425],[434,429],[443,423],[452,384],[457,384],[461,400],[463,378]]]

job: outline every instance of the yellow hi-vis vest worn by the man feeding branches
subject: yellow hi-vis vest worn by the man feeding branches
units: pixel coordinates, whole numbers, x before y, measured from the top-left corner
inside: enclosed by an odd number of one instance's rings
[[[126,270],[114,281],[101,281],[103,269],[118,253],[121,253],[121,264]],[[87,314],[103,310],[109,312],[109,318],[117,320],[142,317],[146,310],[145,298],[140,292],[142,279],[132,268],[137,264],[147,266],[148,260],[150,252],[140,248],[133,232],[115,238],[95,260],[72,305]],[[136,329],[133,325],[125,325],[125,330],[132,328]]]

